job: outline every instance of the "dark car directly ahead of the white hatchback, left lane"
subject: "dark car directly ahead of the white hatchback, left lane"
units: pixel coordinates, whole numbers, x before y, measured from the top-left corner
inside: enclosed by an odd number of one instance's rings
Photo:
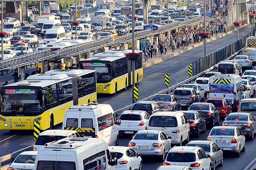
[[[161,106],[156,101],[139,101],[134,104],[132,110],[146,111],[149,115],[161,111]]]

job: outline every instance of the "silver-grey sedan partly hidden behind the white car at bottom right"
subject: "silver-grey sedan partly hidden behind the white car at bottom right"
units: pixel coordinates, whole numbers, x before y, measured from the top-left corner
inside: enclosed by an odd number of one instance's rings
[[[223,148],[219,148],[219,146],[212,141],[190,141],[186,146],[199,146],[204,150],[206,155],[211,156],[211,168],[215,170],[216,166],[223,165]]]

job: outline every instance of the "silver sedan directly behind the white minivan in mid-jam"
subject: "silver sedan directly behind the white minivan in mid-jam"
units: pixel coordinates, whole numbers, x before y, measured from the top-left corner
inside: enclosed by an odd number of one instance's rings
[[[140,130],[128,146],[143,156],[159,156],[160,161],[165,161],[165,156],[171,149],[171,137],[158,130]]]

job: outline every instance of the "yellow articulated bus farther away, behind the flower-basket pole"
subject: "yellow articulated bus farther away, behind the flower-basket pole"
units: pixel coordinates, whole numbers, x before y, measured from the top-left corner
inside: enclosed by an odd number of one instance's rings
[[[94,69],[97,76],[97,93],[116,94],[132,84],[131,61],[124,53],[98,53],[79,61],[80,69]],[[135,61],[135,83],[143,79],[142,57]]]

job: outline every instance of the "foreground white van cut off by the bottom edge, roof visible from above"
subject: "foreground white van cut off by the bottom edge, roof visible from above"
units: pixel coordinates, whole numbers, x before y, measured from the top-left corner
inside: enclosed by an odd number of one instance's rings
[[[45,144],[35,159],[34,170],[115,170],[102,139],[72,137]]]

